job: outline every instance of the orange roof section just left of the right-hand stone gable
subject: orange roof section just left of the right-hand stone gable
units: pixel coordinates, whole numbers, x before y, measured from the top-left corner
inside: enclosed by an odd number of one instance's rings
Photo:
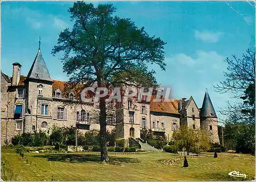
[[[154,102],[153,99],[155,97],[151,97],[150,102],[150,110],[153,112],[160,112],[160,113],[170,113],[170,114],[180,114],[178,112],[178,100],[174,101],[163,101]]]

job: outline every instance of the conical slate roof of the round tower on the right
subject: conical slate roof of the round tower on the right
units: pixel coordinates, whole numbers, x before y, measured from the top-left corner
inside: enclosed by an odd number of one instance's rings
[[[210,96],[208,94],[207,89],[206,89],[205,95],[204,95],[203,106],[200,110],[200,116],[217,118],[217,115],[216,115],[215,110],[214,110],[214,106],[212,106]]]

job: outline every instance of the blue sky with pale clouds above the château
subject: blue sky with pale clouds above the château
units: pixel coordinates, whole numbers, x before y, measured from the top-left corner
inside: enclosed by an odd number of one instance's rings
[[[59,60],[51,50],[58,34],[72,28],[68,9],[74,2],[2,2],[1,68],[12,76],[12,63],[22,65],[27,76],[38,50],[52,79],[67,81]],[[226,101],[234,101],[232,93],[220,94],[212,85],[224,81],[224,60],[231,55],[242,58],[247,48],[254,47],[254,2],[96,2],[113,4],[114,15],[131,18],[137,27],[144,27],[150,36],[160,37],[164,46],[166,71],[156,71],[159,84],[172,88],[174,98],[193,96],[202,107],[207,88],[219,118]]]

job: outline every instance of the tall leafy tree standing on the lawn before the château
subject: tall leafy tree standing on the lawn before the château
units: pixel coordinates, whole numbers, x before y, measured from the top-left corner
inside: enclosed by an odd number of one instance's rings
[[[109,84],[135,84],[148,87],[156,84],[154,70],[147,64],[157,64],[165,70],[165,44],[160,38],[149,36],[144,28],[137,28],[129,18],[113,16],[113,5],[76,2],[69,8],[73,29],[59,34],[52,54],[63,51],[63,71],[70,82]],[[99,98],[101,161],[109,162],[106,145],[106,98]]]

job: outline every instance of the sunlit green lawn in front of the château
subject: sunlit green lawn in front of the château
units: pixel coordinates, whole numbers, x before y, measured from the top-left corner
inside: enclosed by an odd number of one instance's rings
[[[255,175],[254,157],[247,154],[218,153],[216,159],[188,157],[189,168],[182,168],[184,160],[177,166],[162,164],[160,160],[180,158],[166,152],[110,152],[110,164],[103,164],[99,152],[25,153],[22,160],[12,148],[2,147],[2,158],[23,181],[242,180],[228,175],[234,170],[245,173],[247,180]]]

